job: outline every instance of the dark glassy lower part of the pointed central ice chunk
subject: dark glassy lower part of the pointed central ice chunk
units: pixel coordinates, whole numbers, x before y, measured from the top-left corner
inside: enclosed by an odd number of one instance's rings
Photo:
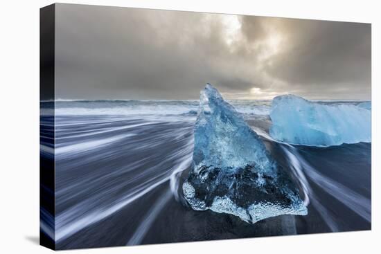
[[[264,219],[263,217],[269,217],[251,214],[252,205],[265,204],[270,208],[276,205],[281,209],[278,212],[283,215],[307,214],[307,209],[299,197],[299,190],[292,183],[291,176],[281,167],[276,168],[276,175],[269,175],[258,173],[255,167],[249,165],[236,170],[221,170],[218,167],[203,166],[197,173],[194,170],[190,171],[186,181],[186,184],[188,183],[191,185],[190,188],[194,188],[195,194],[193,197],[185,198],[190,206],[194,206],[195,210],[200,210],[200,207],[195,206],[192,201],[202,202],[206,208],[215,212],[233,213],[251,223],[256,223],[258,220]],[[186,193],[185,190],[184,193]],[[229,200],[232,202],[233,209],[243,208],[245,211],[226,212],[223,210],[224,208],[221,210],[215,207],[215,201],[218,199]],[[206,208],[201,210],[206,210]]]

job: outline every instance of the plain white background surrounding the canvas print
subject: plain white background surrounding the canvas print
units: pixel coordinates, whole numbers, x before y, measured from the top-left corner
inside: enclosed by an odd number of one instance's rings
[[[372,23],[372,231],[98,248],[71,253],[373,253],[380,235],[380,7],[377,1],[65,1],[107,6],[192,10]],[[39,232],[39,8],[53,1],[1,2],[0,253],[48,253]],[[378,72],[377,72],[378,71]]]

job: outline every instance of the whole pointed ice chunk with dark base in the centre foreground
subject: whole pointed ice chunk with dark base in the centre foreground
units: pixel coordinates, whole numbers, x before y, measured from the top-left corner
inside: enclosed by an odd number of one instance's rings
[[[213,210],[256,223],[307,215],[299,190],[238,111],[206,84],[194,129],[193,165],[183,184],[193,210]]]

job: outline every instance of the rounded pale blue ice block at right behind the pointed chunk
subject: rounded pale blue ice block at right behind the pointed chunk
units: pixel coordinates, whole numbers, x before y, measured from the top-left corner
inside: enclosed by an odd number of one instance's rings
[[[277,96],[272,100],[269,132],[276,140],[298,145],[371,142],[371,111],[363,107],[323,105],[299,96]]]

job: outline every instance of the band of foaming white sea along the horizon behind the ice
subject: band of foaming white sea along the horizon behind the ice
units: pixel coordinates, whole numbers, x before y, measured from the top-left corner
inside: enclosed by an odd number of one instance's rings
[[[245,116],[269,116],[271,100],[228,100]],[[370,109],[370,102],[319,101],[319,105],[355,105]],[[42,116],[197,116],[195,100],[69,100],[40,102]]]

